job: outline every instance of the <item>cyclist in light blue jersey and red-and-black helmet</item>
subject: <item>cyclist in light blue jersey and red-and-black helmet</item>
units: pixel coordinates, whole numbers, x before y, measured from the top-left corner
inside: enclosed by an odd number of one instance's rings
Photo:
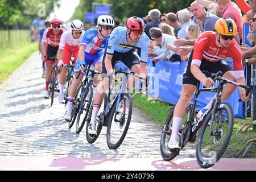
[[[144,28],[143,20],[133,16],[127,20],[126,27],[116,27],[112,31],[102,61],[102,73],[105,74],[102,74],[103,78],[94,96],[93,113],[88,130],[89,134],[97,135],[95,128],[97,113],[101,107],[104,92],[108,89],[109,80],[114,80],[114,65],[117,60],[122,61],[132,72],[144,78],[142,80],[142,89],[146,90],[147,53],[150,39],[144,33]],[[130,76],[127,81],[126,90],[133,88],[133,83],[137,81],[137,77]]]

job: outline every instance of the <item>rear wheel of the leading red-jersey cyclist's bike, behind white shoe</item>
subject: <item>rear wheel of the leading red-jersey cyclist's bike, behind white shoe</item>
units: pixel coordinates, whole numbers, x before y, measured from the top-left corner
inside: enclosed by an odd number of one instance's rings
[[[170,161],[177,156],[176,152],[171,152],[167,148],[167,144],[172,133],[172,131],[170,130],[170,127],[172,126],[172,118],[174,117],[174,108],[175,107],[171,109],[170,114],[168,115],[166,122],[164,123],[161,139],[160,139],[160,152],[161,152],[162,158],[167,161]],[[167,138],[166,135],[169,135],[169,137]]]

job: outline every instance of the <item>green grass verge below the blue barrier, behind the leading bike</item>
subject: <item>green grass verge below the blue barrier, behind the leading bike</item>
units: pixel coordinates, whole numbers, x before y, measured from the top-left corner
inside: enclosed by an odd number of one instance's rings
[[[166,104],[165,102],[162,102],[159,100],[154,100],[151,97],[147,97],[145,94],[137,94],[133,99],[133,104],[134,106],[141,109],[144,113],[146,113],[148,117],[152,119],[159,126],[164,125],[164,122],[166,121],[166,118],[168,117],[168,114],[169,114],[169,111],[167,111],[167,109],[171,107],[170,104]],[[241,150],[243,145],[249,139],[256,138],[255,131],[247,130],[246,133],[236,134],[238,129],[240,129],[240,127],[244,123],[250,123],[250,121],[246,119],[240,119],[240,118],[234,119],[234,128],[233,128],[232,138],[230,139],[228,148],[226,149],[222,158],[234,158],[237,152]],[[251,148],[247,152],[245,157],[256,158],[256,148],[255,147]]]

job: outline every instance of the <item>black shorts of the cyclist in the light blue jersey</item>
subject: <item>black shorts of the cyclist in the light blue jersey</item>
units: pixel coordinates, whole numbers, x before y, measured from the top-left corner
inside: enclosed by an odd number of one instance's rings
[[[105,57],[106,57],[106,51],[104,53],[104,57],[103,57],[103,61],[102,61],[102,73],[107,73],[106,67],[105,67]],[[137,54],[137,52],[134,49],[131,49],[128,52],[122,52],[122,53],[114,51],[113,57],[111,60],[111,64],[112,64],[112,68],[114,69],[115,63],[117,61],[122,61],[126,65],[126,67],[131,69],[131,67],[133,67],[133,65],[140,64],[140,62],[141,62],[140,60],[141,60],[141,58],[139,57],[139,55]]]

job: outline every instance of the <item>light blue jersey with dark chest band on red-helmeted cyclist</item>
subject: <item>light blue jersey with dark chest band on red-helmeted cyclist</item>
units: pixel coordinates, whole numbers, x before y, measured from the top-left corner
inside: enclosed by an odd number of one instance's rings
[[[126,27],[114,28],[109,38],[109,44],[106,49],[106,53],[113,55],[114,51],[125,53],[131,49],[138,49],[138,54],[141,57],[141,61],[147,63],[147,53],[150,46],[150,39],[148,36],[143,33],[138,43],[133,42],[127,45],[127,39],[129,38],[126,37],[126,32]]]

